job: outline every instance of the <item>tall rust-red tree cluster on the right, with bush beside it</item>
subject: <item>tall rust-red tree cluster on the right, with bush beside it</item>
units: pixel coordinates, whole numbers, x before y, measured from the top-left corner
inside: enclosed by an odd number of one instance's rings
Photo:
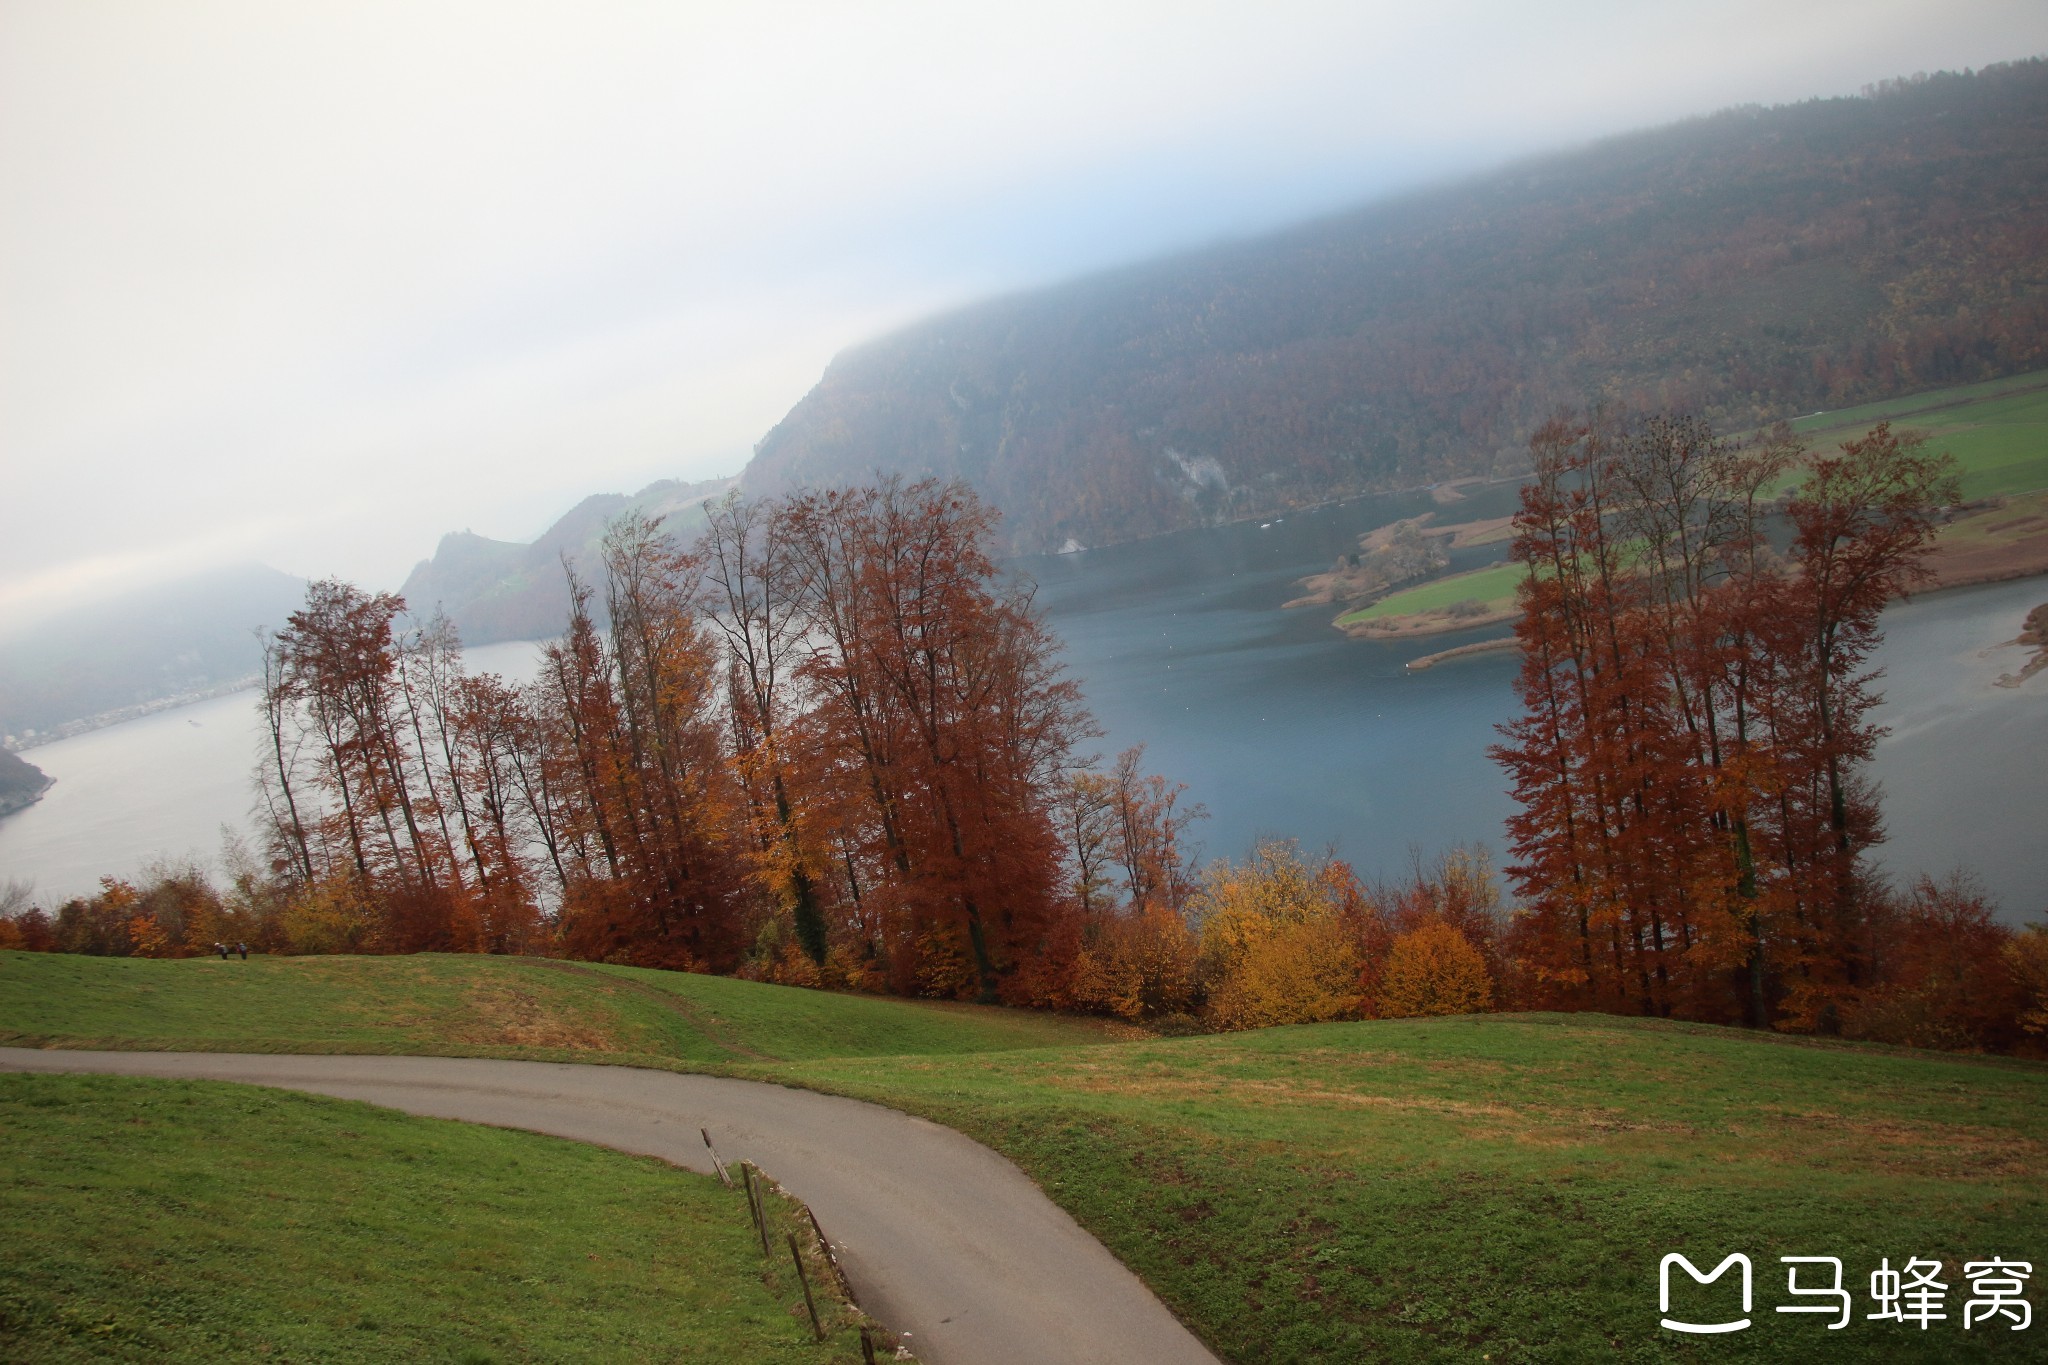
[[[1524,710],[1495,749],[1528,999],[1896,1033],[1901,993],[1948,972],[1976,999],[1944,1009],[2017,1019],[1982,896],[1894,894],[1866,862],[1870,655],[1956,499],[1950,460],[1878,426],[1774,495],[1802,458],[1782,428],[1731,444],[1597,411],[1544,426],[1532,456]]]

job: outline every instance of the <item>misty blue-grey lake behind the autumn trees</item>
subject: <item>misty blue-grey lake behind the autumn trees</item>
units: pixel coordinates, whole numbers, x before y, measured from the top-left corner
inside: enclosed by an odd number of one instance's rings
[[[1499,516],[1511,499],[1507,485],[1481,489],[1438,520]],[[1335,608],[1280,604],[1360,532],[1432,508],[1427,493],[1374,497],[1018,567],[1106,731],[1096,747],[1145,743],[1153,772],[1186,782],[1210,810],[1194,831],[1208,855],[1282,835],[1395,876],[1411,851],[1501,849],[1509,800],[1485,749],[1513,712],[1513,655],[1405,665],[1503,628],[1368,643],[1331,628]],[[1487,557],[1464,551],[1454,567]],[[1890,831],[1878,862],[1896,876],[1960,864],[2015,921],[2048,913],[2048,673],[1995,688],[2021,651],[1993,647],[2044,600],[2048,579],[1915,598],[1886,614],[1880,653],[1892,733],[1876,759]],[[532,655],[487,645],[469,663],[522,677]],[[57,786],[0,821],[0,880],[33,878],[53,905],[152,855],[211,857],[221,825],[248,821],[258,729],[242,694],[31,749]]]

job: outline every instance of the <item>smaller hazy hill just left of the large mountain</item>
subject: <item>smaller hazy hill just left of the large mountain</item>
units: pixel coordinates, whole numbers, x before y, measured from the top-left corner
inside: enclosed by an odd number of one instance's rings
[[[631,495],[592,493],[530,544],[492,540],[469,530],[449,532],[434,546],[434,557],[422,559],[406,575],[399,596],[414,616],[430,616],[436,608],[444,612],[467,645],[559,634],[569,620],[563,557],[586,577],[596,577],[598,542],[612,518],[645,512],[668,522],[670,530],[688,532],[700,524],[705,499],[731,483],[662,479]],[[592,606],[602,614],[602,602]]]

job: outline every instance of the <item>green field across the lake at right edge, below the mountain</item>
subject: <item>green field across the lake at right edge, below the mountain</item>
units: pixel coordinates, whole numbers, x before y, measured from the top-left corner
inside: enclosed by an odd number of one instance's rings
[[[1817,413],[1792,428],[1810,448],[1835,450],[1880,420],[1927,432],[1935,450],[1956,456],[1966,499],[2048,487],[2048,370]]]

